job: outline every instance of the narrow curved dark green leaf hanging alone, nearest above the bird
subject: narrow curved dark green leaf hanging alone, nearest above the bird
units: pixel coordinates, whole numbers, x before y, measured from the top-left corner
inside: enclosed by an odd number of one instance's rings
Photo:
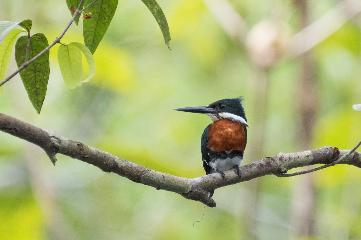
[[[156,0],[142,0],[142,2],[147,6],[147,8],[151,11],[154,18],[156,19],[160,30],[162,31],[164,42],[167,44],[169,50],[169,41],[170,41],[170,33],[169,33],[169,27],[167,19],[165,18],[165,15],[163,13],[163,10],[160,8],[159,4]]]

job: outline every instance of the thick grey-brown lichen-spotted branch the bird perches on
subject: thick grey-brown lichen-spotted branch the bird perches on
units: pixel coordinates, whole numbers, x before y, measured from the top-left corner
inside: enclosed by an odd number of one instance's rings
[[[190,179],[145,168],[108,152],[62,137],[56,132],[38,128],[1,113],[0,130],[41,147],[54,165],[56,154],[67,155],[97,166],[104,172],[116,173],[133,182],[155,187],[157,190],[176,192],[186,199],[200,201],[210,207],[216,206],[214,200],[208,195],[209,191],[213,189],[249,181],[264,175],[279,176],[286,173],[287,170],[301,166],[328,164],[349,152],[349,150],[339,150],[336,147],[322,147],[317,150],[288,154],[280,152],[273,157],[266,157],[260,161],[241,166],[241,179],[239,179],[235,169],[224,172],[226,181],[217,173]],[[349,164],[361,168],[361,154],[353,152],[336,164]]]

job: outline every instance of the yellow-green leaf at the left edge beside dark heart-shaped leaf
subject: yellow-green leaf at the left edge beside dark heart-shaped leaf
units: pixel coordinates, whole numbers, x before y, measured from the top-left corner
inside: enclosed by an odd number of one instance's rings
[[[0,82],[5,79],[5,73],[8,68],[11,51],[20,32],[25,31],[21,29],[11,30],[10,33],[6,35],[3,43],[0,45]],[[3,94],[3,86],[0,86],[0,95]]]

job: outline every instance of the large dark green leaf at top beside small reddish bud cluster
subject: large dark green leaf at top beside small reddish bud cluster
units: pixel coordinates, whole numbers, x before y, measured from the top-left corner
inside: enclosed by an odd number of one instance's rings
[[[86,0],[84,6],[89,5],[92,0]],[[91,18],[83,21],[84,44],[93,54],[101,39],[108,29],[110,21],[117,9],[118,0],[98,0],[87,9]]]

